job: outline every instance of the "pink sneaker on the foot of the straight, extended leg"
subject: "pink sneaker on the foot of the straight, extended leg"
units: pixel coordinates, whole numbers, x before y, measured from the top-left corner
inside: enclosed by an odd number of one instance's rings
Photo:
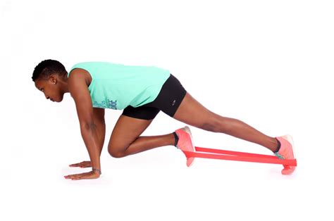
[[[280,141],[280,150],[278,153],[274,153],[280,159],[295,159],[294,156],[294,144],[292,137],[287,134],[282,137],[276,137]],[[294,166],[283,165],[284,169],[282,170],[283,175],[290,175],[295,171]]]

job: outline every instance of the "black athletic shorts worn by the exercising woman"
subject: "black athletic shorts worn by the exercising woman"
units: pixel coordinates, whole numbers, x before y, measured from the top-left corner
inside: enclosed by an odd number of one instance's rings
[[[131,118],[152,120],[156,117],[159,111],[162,110],[163,113],[166,113],[173,118],[181,101],[185,98],[185,94],[187,94],[187,91],[183,85],[171,74],[161,87],[161,90],[154,101],[137,108],[129,105],[124,108],[122,115]]]

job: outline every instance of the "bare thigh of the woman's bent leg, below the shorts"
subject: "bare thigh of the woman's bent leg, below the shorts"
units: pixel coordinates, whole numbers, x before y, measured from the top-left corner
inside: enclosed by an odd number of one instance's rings
[[[121,155],[137,137],[140,137],[152,121],[153,119],[144,120],[120,115],[109,139],[108,151],[111,156]]]

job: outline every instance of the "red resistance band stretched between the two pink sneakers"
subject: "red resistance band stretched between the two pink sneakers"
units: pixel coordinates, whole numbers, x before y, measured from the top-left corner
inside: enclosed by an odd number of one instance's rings
[[[296,159],[280,159],[277,156],[256,154],[256,153],[245,153],[237,151],[224,151],[220,149],[209,149],[204,147],[195,146],[197,152],[183,151],[186,158],[211,158],[219,160],[237,160],[254,163],[275,163],[282,165],[297,166]],[[204,152],[204,153],[200,153]]]

